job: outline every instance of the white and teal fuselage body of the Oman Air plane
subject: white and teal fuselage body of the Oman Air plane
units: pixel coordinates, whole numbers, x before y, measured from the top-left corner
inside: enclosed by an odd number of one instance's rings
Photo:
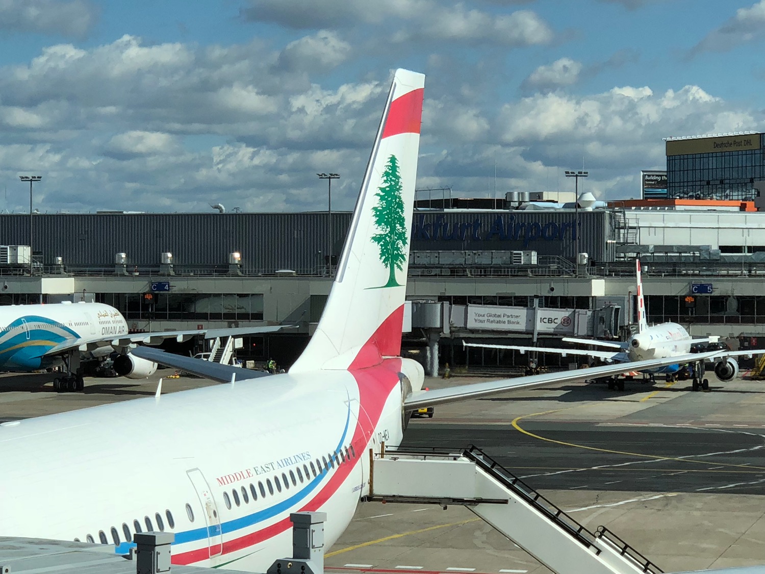
[[[0,370],[29,371],[60,363],[46,353],[67,343],[87,344],[128,334],[122,314],[103,303],[0,307]]]

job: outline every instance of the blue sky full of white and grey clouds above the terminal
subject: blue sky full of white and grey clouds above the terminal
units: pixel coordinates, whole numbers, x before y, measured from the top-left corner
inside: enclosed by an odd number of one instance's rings
[[[0,0],[0,210],[21,174],[44,212],[324,210],[320,171],[350,210],[396,67],[418,188],[635,197],[663,137],[765,129],[763,48],[765,0]]]

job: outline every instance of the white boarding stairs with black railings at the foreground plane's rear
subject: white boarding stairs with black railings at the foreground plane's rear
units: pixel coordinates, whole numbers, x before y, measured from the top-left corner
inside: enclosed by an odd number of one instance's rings
[[[462,452],[369,452],[366,501],[460,504],[558,574],[663,572],[605,527],[591,532],[470,446]]]

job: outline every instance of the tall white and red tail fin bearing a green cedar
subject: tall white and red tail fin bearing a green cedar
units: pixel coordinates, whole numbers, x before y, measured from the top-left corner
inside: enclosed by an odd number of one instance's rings
[[[290,373],[401,353],[424,88],[422,73],[396,70],[327,305]]]

